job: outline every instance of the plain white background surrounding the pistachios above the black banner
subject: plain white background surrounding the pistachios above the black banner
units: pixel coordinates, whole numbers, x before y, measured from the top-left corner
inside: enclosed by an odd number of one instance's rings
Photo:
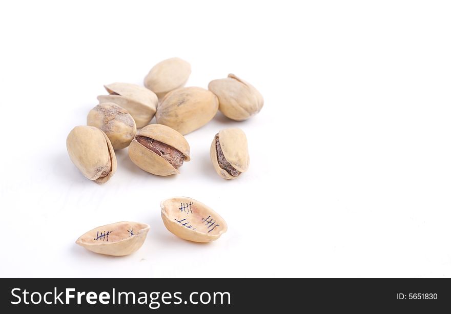
[[[2,277],[451,277],[451,10],[435,1],[77,1],[0,5]],[[263,95],[245,122],[220,113],[186,136],[181,174],[127,149],[105,185],[71,163],[66,136],[104,84],[142,84],[156,62],[187,86],[234,73]],[[248,136],[249,172],[221,179],[221,128]],[[176,238],[159,202],[189,196],[228,232]],[[75,240],[150,224],[135,254]]]

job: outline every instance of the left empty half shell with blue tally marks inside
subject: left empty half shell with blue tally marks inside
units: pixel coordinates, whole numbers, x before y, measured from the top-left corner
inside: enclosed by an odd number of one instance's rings
[[[149,228],[148,224],[139,222],[111,223],[88,231],[75,243],[98,254],[129,255],[142,246]]]

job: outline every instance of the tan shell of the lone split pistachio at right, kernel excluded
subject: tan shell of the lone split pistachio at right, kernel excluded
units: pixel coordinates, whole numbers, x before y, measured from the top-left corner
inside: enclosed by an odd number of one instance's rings
[[[229,128],[223,129],[218,132],[219,145],[221,146],[222,153],[226,160],[232,165],[233,168],[243,173],[249,168],[249,150],[248,140],[246,135],[241,129]],[[218,163],[217,151],[216,151],[216,135],[213,138],[210,146],[210,158],[212,160],[215,171],[224,179],[235,179],[226,170],[222,169]]]

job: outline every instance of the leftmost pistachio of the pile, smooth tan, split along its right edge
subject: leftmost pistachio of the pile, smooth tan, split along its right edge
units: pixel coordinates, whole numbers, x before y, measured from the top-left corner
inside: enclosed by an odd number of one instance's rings
[[[67,136],[66,146],[70,159],[88,179],[105,183],[116,172],[113,145],[103,131],[79,125]]]

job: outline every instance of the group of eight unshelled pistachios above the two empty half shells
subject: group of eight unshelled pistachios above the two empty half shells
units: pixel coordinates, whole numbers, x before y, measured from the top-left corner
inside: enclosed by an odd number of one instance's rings
[[[78,170],[96,183],[107,182],[117,169],[114,150],[129,147],[134,164],[158,176],[179,174],[190,161],[183,135],[207,124],[219,110],[242,121],[258,113],[263,97],[248,82],[229,74],[212,80],[208,90],[184,87],[191,65],[180,58],[156,64],[144,85],[111,83],[106,95],[87,116],[87,125],[72,129],[66,141]],[[155,116],[156,123],[149,124]],[[139,130],[138,130],[139,129]],[[247,138],[238,128],[220,130],[210,147],[213,168],[224,179],[235,179],[249,167]]]

